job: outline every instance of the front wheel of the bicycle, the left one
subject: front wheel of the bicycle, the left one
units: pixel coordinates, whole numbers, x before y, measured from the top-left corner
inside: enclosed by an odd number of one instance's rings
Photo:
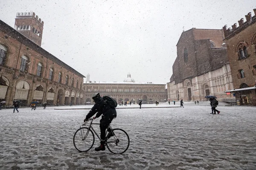
[[[73,143],[77,150],[80,152],[87,152],[93,147],[94,134],[88,127],[81,127],[76,130],[73,137]]]

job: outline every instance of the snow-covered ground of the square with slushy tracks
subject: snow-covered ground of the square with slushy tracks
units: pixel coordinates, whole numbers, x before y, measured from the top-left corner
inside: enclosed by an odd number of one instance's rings
[[[0,170],[255,170],[256,108],[184,102],[118,106],[112,127],[125,130],[130,146],[122,155],[107,148],[80,153],[73,135],[88,106],[0,110]],[[145,108],[145,107],[155,108]],[[134,108],[136,107],[136,108]],[[99,122],[96,119],[95,122]],[[99,128],[96,128],[99,130]]]

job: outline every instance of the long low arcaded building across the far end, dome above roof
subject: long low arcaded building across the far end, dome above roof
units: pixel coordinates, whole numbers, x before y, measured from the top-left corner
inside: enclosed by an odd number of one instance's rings
[[[90,75],[87,75],[87,77]],[[131,74],[128,74],[124,82],[96,82],[87,81],[83,85],[85,100],[87,104],[93,104],[91,98],[92,94],[100,93],[101,96],[111,96],[118,103],[132,102],[133,104],[139,103],[139,100],[143,100],[143,103],[152,104],[155,101],[165,102],[167,99],[165,83],[152,83],[152,82],[135,82],[131,78]]]

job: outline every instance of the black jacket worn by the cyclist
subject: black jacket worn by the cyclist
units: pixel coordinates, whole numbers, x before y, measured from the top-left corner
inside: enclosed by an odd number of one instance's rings
[[[110,105],[104,101],[102,97],[95,99],[95,105],[91,108],[85,119],[91,118],[95,113],[96,118],[102,115],[102,119],[108,117],[116,117],[116,109],[111,108]]]

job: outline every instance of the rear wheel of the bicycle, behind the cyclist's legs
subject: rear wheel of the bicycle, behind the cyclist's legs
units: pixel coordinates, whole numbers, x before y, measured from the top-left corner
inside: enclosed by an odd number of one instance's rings
[[[130,144],[130,139],[125,130],[122,129],[113,129],[112,132],[109,132],[107,135],[106,145],[108,150],[114,154],[124,153]]]

